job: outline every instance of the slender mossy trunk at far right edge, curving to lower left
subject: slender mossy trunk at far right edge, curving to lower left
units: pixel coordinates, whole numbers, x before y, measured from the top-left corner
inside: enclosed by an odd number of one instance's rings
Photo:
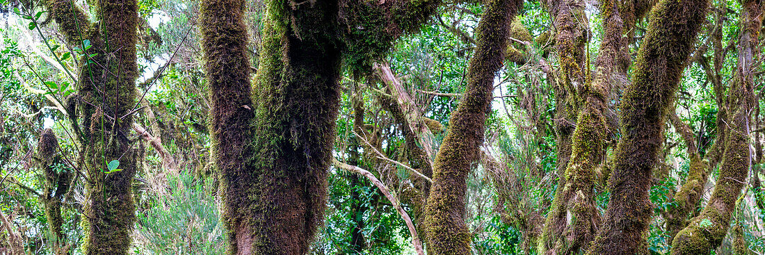
[[[749,121],[755,103],[752,70],[754,56],[759,52],[757,37],[763,19],[761,5],[759,0],[742,2],[738,65],[734,83],[728,90],[728,118],[725,126],[728,131],[724,137],[720,174],[707,206],[672,241],[673,255],[708,253],[718,247],[728,233],[736,200],[746,184],[754,160],[749,143]]]

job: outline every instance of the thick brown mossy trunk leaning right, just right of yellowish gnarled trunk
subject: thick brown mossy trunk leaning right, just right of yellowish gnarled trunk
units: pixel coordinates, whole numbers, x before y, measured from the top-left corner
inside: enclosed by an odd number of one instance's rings
[[[663,140],[666,108],[673,102],[707,5],[707,0],[662,0],[651,11],[632,83],[620,105],[622,138],[608,180],[610,202],[588,254],[648,252],[651,170]]]

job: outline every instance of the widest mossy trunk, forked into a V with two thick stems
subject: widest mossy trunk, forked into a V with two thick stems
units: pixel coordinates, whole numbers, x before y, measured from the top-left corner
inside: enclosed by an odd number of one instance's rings
[[[268,2],[253,105],[243,4],[201,8],[229,252],[304,254],[324,215],[339,102],[340,51],[331,38],[338,7]]]

